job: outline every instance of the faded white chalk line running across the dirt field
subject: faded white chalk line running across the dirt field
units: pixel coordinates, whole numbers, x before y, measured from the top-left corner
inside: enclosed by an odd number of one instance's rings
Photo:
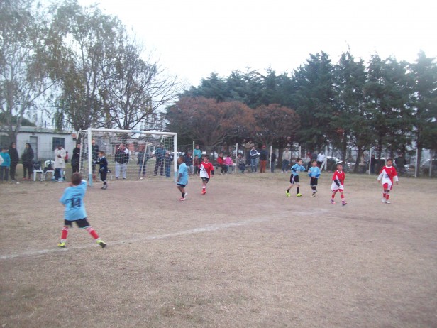
[[[312,209],[311,211],[308,211],[308,212],[294,212],[293,215],[298,214],[298,215],[302,215],[302,216],[309,216],[309,215],[314,215],[314,214],[318,214],[321,212],[327,212],[327,211],[325,209]],[[238,226],[248,226],[250,224],[257,223],[257,222],[267,222],[267,221],[270,221],[271,219],[287,218],[287,217],[289,217],[289,215],[290,215],[289,213],[284,213],[280,216],[275,215],[274,217],[270,217],[270,218],[259,217],[259,218],[254,218],[254,219],[247,219],[247,220],[243,220],[243,221],[238,221],[238,222],[228,222],[228,223],[223,223],[223,224],[209,224],[207,226],[201,226],[200,228],[177,231],[177,232],[173,232],[171,234],[157,234],[157,235],[152,235],[152,236],[124,239],[121,241],[110,241],[108,243],[108,246],[130,244],[133,242],[144,241],[144,240],[146,240],[146,241],[152,240],[153,241],[155,239],[165,239],[165,238],[176,237],[176,236],[184,236],[184,235],[188,235],[188,234],[199,234],[202,232],[224,230],[224,229],[229,229],[229,228],[238,227]],[[58,253],[58,252],[69,251],[72,249],[81,249],[81,248],[90,248],[90,247],[100,247],[100,246],[98,246],[97,244],[87,244],[87,245],[72,246],[72,247],[67,247],[67,248],[49,248],[49,249],[31,250],[31,251],[24,251],[22,253],[1,255],[0,260],[9,260],[11,258],[18,258],[18,257],[24,257],[24,256],[35,256],[35,255],[48,254],[48,253]]]

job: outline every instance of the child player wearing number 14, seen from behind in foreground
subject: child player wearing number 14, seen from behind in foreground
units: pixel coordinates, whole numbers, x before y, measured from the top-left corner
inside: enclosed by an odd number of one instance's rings
[[[62,195],[60,202],[65,205],[64,227],[62,228],[61,241],[57,246],[65,248],[65,241],[69,227],[73,222],[81,229],[85,229],[101,247],[106,247],[106,243],[99,238],[92,226],[87,221],[85,212],[84,195],[87,191],[87,182],[82,181],[80,173],[73,173],[70,187],[67,187]]]

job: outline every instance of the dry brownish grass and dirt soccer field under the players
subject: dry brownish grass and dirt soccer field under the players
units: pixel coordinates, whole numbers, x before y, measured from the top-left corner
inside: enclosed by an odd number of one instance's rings
[[[437,183],[347,175],[348,205],[287,198],[289,175],[90,187],[100,248],[70,229],[65,183],[0,185],[0,327],[437,327]],[[293,194],[295,191],[293,190]],[[337,195],[339,197],[339,195]],[[339,199],[339,198],[337,198]]]

